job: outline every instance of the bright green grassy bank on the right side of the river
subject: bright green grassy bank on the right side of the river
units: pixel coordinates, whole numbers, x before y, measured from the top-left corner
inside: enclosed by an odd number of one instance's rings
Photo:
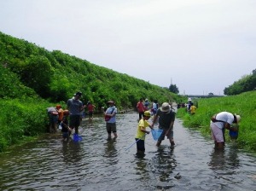
[[[230,112],[241,115],[239,136],[236,140],[239,148],[256,152],[256,91],[238,96],[198,99],[195,115],[186,113],[185,108],[178,109],[177,117],[189,128],[199,128],[203,135],[210,136],[210,118],[219,112]],[[227,142],[230,142],[226,130]]]

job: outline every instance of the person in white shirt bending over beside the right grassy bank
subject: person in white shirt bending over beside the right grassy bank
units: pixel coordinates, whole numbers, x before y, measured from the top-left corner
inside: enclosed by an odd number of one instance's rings
[[[223,149],[225,136],[224,130],[228,129],[234,132],[238,132],[238,123],[241,117],[236,113],[221,112],[212,116],[211,118],[211,133],[214,140],[215,149]],[[236,124],[236,127],[231,127],[231,124]]]

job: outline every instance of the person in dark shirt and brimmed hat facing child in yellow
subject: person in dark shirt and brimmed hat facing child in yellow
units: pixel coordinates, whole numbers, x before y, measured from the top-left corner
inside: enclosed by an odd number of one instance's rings
[[[152,127],[154,126],[156,120],[159,122],[159,129],[163,130],[158,141],[156,142],[156,146],[159,147],[161,142],[165,139],[165,136],[167,136],[169,142],[171,143],[171,147],[174,147],[173,124],[175,120],[175,113],[172,111],[172,107],[169,103],[164,102],[157,110],[156,114],[154,115]]]

